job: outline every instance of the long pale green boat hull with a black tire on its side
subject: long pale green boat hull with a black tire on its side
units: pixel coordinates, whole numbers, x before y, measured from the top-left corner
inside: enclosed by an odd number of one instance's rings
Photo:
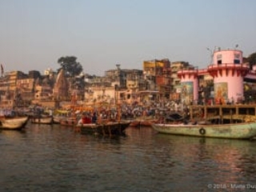
[[[180,134],[209,138],[254,138],[256,122],[234,124],[185,125],[185,124],[153,124],[154,130],[162,134]]]

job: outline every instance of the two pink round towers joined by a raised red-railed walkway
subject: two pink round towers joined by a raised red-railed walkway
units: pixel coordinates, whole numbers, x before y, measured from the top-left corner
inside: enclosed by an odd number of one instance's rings
[[[213,54],[213,63],[203,70],[181,70],[178,77],[181,79],[182,102],[190,104],[198,101],[198,75],[210,74],[214,80],[214,102],[238,102],[244,98],[243,82],[246,75],[255,79],[250,73],[248,63],[242,61],[241,50],[216,50]],[[252,77],[251,77],[252,76]]]

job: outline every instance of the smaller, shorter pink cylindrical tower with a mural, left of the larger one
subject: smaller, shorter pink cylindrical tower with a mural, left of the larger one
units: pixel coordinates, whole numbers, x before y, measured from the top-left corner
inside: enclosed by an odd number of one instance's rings
[[[198,101],[198,70],[180,70],[178,78],[181,79],[181,102],[190,105]]]

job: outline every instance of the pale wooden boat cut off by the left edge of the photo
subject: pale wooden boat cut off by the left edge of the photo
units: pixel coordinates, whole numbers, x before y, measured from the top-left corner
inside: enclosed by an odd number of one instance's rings
[[[26,123],[28,122],[29,117],[22,118],[5,118],[0,121],[0,129],[2,130],[22,130]]]

